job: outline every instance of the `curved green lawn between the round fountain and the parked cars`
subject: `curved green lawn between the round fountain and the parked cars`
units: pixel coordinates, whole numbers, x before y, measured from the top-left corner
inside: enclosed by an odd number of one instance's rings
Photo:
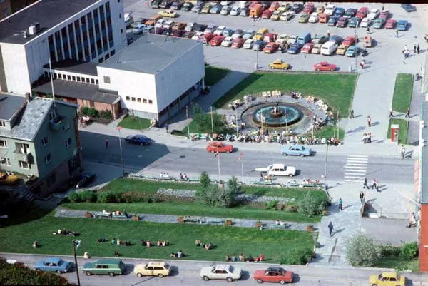
[[[339,116],[343,117],[350,112],[356,81],[355,74],[255,72],[225,93],[213,106],[221,108],[230,101],[242,99],[245,95],[278,89],[282,93],[297,91],[304,96],[322,98],[328,106],[339,111]]]

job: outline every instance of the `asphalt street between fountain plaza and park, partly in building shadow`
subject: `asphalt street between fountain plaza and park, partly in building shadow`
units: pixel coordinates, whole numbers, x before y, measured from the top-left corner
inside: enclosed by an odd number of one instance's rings
[[[93,142],[103,142],[101,134],[81,132],[83,158],[108,165],[121,165],[121,152],[117,138],[111,140],[108,148]],[[188,176],[198,176],[206,170],[212,178],[218,178],[218,160],[212,153],[206,152],[205,142],[195,142],[190,148],[168,147],[160,143],[149,146],[127,145],[122,140],[123,165],[126,169],[135,171],[144,170],[146,173],[158,174],[161,172],[178,176],[186,173]],[[248,143],[250,144],[250,143]],[[100,148],[101,147],[101,148]],[[268,145],[266,150],[245,151],[243,160],[238,161],[239,150],[230,154],[220,154],[220,173],[241,177],[242,164],[245,180],[259,178],[255,168],[267,167],[272,163],[284,163],[297,168],[297,180],[310,178],[322,180],[325,173],[325,153],[311,157],[282,156],[282,145]],[[334,148],[334,147],[332,147]],[[342,181],[345,177],[347,155],[329,154],[327,158],[327,178],[330,181]],[[368,157],[367,172],[371,177],[378,178],[382,183],[412,183],[413,160],[402,160],[391,157]]]

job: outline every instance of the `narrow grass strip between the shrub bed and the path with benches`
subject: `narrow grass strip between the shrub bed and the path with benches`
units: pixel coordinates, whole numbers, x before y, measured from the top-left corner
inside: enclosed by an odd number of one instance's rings
[[[320,216],[307,218],[301,213],[284,210],[264,210],[250,206],[236,208],[214,208],[202,203],[63,203],[61,206],[73,210],[123,210],[128,213],[151,213],[155,215],[195,215],[219,218],[247,218],[254,220],[285,220],[297,223],[319,223]]]

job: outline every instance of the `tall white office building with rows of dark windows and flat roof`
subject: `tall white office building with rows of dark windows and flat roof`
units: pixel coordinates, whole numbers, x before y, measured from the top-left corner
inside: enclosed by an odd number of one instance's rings
[[[0,21],[0,91],[31,93],[44,66],[101,63],[127,44],[120,0],[41,0]]]

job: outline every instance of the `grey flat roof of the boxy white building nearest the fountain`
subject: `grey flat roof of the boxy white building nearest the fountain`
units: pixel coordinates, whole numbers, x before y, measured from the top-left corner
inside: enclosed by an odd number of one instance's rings
[[[145,34],[98,66],[156,74],[199,44],[202,45],[192,39]]]

